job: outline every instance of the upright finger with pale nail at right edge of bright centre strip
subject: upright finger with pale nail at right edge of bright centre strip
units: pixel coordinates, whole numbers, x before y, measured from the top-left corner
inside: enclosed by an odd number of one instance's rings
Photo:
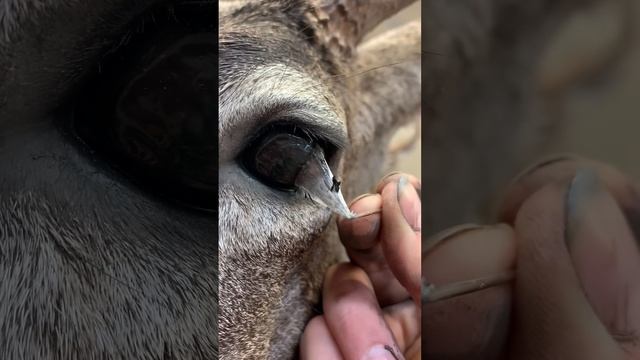
[[[420,306],[421,203],[408,178],[382,189],[381,244],[387,264]]]

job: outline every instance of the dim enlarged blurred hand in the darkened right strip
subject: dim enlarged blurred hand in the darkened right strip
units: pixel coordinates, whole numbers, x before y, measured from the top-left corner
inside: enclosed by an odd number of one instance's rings
[[[640,195],[617,170],[562,156],[506,191],[506,225],[461,226],[423,259],[429,282],[515,281],[427,304],[430,359],[640,359]],[[482,242],[482,246],[477,244]]]

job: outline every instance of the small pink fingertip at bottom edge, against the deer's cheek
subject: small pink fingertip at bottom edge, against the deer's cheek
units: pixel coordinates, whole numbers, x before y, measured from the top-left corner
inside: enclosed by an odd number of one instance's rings
[[[304,329],[300,341],[300,358],[302,360],[342,359],[324,316],[314,317]]]

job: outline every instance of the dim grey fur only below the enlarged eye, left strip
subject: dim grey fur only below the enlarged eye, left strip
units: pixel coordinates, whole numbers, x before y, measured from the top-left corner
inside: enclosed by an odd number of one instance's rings
[[[2,135],[0,357],[215,357],[215,221],[148,200],[56,130]]]

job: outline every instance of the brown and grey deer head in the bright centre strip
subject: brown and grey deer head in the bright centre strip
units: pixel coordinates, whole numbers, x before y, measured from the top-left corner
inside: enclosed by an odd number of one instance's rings
[[[323,144],[347,198],[375,185],[394,130],[420,112],[420,25],[362,39],[410,2],[220,2],[221,357],[291,357],[342,257],[330,211],[244,154],[301,132]],[[284,148],[266,161],[294,163]]]

